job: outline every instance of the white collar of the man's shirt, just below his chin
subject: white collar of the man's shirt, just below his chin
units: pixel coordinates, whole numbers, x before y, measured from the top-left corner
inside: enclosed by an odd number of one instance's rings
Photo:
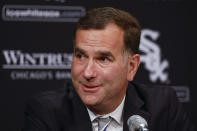
[[[106,118],[108,116],[112,117],[118,124],[122,124],[122,112],[123,112],[123,107],[124,107],[124,101],[125,101],[125,96],[121,102],[121,104],[111,113],[105,114],[105,115],[99,115],[99,114],[95,114],[94,112],[92,112],[91,110],[88,110],[88,114],[90,116],[90,120],[91,122],[93,122],[96,118],[98,117],[102,117],[102,118]]]

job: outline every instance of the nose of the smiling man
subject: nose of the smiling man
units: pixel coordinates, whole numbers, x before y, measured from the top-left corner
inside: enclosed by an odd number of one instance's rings
[[[89,60],[84,69],[84,78],[88,81],[94,79],[96,77],[96,67],[93,60]]]

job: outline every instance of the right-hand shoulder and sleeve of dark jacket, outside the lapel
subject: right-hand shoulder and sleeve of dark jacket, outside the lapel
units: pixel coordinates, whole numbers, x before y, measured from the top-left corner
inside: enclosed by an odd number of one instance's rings
[[[194,131],[194,126],[170,86],[133,84],[145,109],[151,114],[153,130]]]

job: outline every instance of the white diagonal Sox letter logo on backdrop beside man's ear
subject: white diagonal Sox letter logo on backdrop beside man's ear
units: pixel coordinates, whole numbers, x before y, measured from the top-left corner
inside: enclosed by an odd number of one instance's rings
[[[141,62],[144,64],[144,68],[150,72],[150,81],[160,80],[162,83],[166,83],[168,82],[168,72],[165,72],[165,69],[169,67],[169,62],[166,59],[161,59],[161,48],[156,43],[159,36],[158,31],[142,30],[140,51],[143,54]]]

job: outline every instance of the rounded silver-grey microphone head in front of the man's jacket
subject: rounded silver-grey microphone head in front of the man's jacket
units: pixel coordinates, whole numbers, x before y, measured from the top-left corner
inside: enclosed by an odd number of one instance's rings
[[[139,115],[130,116],[127,120],[127,125],[129,127],[129,131],[148,131],[148,124],[146,120]]]

